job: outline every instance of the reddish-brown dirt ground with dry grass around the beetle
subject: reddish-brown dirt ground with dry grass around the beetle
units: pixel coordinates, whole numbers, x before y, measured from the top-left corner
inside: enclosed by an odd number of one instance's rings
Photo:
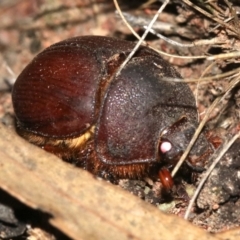
[[[162,2],[121,0],[119,5],[134,30],[141,35],[145,24],[151,21]],[[110,0],[1,1],[1,122],[7,126],[14,125],[11,103],[14,81],[31,59],[49,45],[82,35],[102,35],[136,41],[115,11],[114,3]],[[202,79],[202,82],[189,83],[196,97],[200,120],[214,100],[222,97],[211,112],[205,127],[206,135],[216,151],[220,151],[222,145],[231,140],[239,129],[239,11],[239,1],[215,0],[207,3],[196,0],[190,4],[189,1],[179,3],[173,0],[160,14],[153,29],[181,44],[170,44],[151,33],[145,39],[150,46],[170,54],[163,57],[184,79]],[[228,53],[232,53],[232,56],[227,57]],[[207,59],[211,56],[212,59]],[[189,220],[209,232],[228,230],[240,225],[239,144],[238,139],[214,168],[190,213]],[[201,165],[208,169],[213,160],[214,157],[209,156]],[[189,169],[187,174],[184,170],[180,171],[176,186],[168,194],[163,193],[158,179],[120,179],[114,181],[114,184],[164,212],[183,217],[203,175],[204,173]],[[19,210],[16,216],[13,213],[13,210],[17,212],[15,206],[30,212],[31,217],[22,218],[23,210]],[[1,208],[5,212],[2,217]],[[1,191],[0,238],[68,239],[45,222],[47,214],[42,217],[41,213],[31,211]],[[11,229],[12,225],[14,231]]]

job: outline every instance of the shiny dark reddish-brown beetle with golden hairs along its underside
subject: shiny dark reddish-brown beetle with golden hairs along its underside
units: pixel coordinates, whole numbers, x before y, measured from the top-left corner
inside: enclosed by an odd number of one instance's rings
[[[95,174],[137,178],[172,162],[194,133],[195,99],[186,83],[161,81],[180,75],[147,47],[116,77],[134,46],[84,36],[37,55],[12,92],[19,134]],[[192,154],[208,147],[201,136]]]

